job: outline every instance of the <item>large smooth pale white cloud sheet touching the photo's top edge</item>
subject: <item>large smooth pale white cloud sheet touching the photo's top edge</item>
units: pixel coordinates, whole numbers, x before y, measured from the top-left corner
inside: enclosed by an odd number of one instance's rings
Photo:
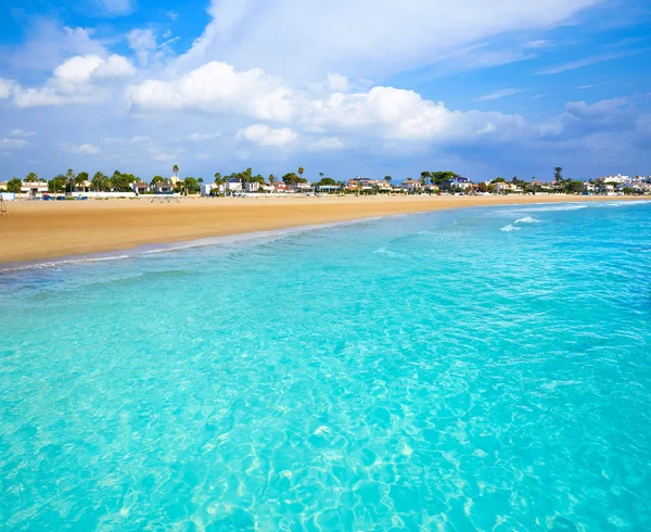
[[[308,81],[327,72],[380,76],[432,64],[506,33],[545,30],[600,0],[213,0],[212,22],[183,61],[219,58]],[[279,31],[278,28],[296,28]]]

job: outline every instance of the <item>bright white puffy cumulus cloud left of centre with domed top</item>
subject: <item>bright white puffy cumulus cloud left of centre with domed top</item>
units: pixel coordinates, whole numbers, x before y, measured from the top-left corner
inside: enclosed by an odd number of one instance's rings
[[[128,100],[141,110],[195,109],[283,122],[292,115],[291,97],[289,88],[261,68],[237,72],[217,61],[179,79],[148,79],[128,90]]]

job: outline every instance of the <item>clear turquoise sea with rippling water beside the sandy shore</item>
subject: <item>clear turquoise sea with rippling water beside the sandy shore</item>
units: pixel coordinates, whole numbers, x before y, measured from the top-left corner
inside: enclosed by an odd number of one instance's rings
[[[0,273],[2,530],[651,530],[651,204]]]

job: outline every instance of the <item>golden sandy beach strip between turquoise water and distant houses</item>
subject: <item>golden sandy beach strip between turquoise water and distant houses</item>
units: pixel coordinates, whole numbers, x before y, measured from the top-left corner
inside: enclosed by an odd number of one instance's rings
[[[373,216],[521,203],[635,201],[634,198],[329,197],[181,199],[8,203],[0,218],[0,264],[132,249],[207,237],[276,230]]]

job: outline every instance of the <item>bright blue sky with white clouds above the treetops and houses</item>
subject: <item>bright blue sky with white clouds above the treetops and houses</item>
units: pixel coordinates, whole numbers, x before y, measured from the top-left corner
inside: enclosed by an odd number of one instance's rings
[[[640,0],[3,0],[0,180],[651,174]]]

